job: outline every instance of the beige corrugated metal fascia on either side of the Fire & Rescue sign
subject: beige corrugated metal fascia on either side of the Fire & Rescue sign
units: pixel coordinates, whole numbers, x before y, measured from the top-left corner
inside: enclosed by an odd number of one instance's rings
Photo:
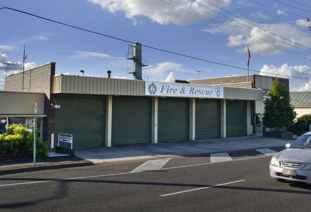
[[[189,86],[189,84],[185,84]],[[191,85],[191,84],[190,84]],[[223,87],[224,99],[262,100],[261,89]],[[145,96],[145,81],[55,75],[53,93]]]

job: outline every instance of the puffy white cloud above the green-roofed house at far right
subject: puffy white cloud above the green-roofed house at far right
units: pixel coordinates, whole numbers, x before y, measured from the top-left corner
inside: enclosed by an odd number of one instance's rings
[[[295,76],[295,77],[303,77],[303,78],[310,78],[311,69],[307,65],[295,65],[295,66],[289,66],[287,63],[281,65],[280,68],[274,66],[274,65],[267,65],[265,64],[262,69],[260,69],[260,75],[266,75],[266,76],[273,76],[271,74],[266,74],[262,72],[267,73],[276,73],[281,75],[287,75],[287,76]],[[281,77],[281,78],[289,78],[290,83],[290,91],[311,91],[311,80],[308,79],[300,79],[300,78],[294,78],[294,77],[285,77],[285,76],[277,76],[275,77]]]

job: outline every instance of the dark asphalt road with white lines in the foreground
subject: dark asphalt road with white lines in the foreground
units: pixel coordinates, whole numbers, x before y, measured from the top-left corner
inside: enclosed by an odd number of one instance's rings
[[[145,160],[3,175],[0,210],[310,211],[311,186],[272,179],[272,156],[228,155],[216,163],[209,154],[163,159],[150,171],[131,172]]]

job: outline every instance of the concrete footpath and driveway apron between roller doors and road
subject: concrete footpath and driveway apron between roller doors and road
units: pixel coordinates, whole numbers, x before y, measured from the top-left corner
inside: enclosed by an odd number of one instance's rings
[[[32,160],[2,162],[0,174],[14,174],[29,171],[59,169],[77,166],[90,166],[102,163],[116,163],[132,160],[144,160],[165,157],[187,157],[209,153],[228,152],[269,147],[285,147],[294,139],[275,139],[258,135],[234,138],[220,138],[196,141],[162,142],[158,144],[133,144],[113,146],[110,148],[76,149],[75,156],[57,155],[50,152],[45,159],[37,159],[36,165]]]

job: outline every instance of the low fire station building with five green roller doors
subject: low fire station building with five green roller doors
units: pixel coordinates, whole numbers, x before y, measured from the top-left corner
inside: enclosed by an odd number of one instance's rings
[[[3,91],[44,94],[49,146],[59,133],[73,148],[251,135],[251,103],[262,100],[262,89],[55,75],[55,64],[5,77]]]

